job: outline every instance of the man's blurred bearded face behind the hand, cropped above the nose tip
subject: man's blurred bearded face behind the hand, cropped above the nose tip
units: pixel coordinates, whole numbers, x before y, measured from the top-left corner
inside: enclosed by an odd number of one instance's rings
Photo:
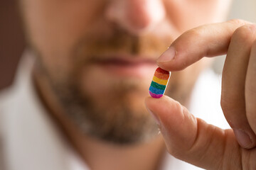
[[[36,69],[71,120],[101,139],[138,142],[156,132],[144,108],[155,60],[185,30],[221,21],[229,2],[21,0],[21,9]],[[196,79],[174,77],[174,98]]]

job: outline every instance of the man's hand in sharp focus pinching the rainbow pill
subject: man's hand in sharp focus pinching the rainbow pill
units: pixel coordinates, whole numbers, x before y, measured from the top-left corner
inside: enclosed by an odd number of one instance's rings
[[[256,26],[233,20],[188,30],[159,58],[159,67],[178,71],[227,54],[221,106],[232,130],[195,118],[180,103],[163,96],[146,98],[166,147],[178,159],[205,169],[256,169]]]

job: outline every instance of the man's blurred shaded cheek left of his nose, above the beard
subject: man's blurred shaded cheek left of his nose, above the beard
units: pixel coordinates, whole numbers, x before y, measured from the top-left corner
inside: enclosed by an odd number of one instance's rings
[[[70,69],[73,48],[90,31],[102,4],[94,1],[24,0],[23,21],[31,47],[51,69]]]

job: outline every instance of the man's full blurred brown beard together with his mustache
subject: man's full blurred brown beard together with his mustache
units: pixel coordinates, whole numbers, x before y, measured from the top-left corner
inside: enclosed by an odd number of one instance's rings
[[[63,116],[68,116],[85,135],[122,145],[145,142],[159,132],[144,106],[151,78],[144,81],[105,77],[95,70],[94,63],[113,54],[155,59],[166,50],[170,40],[154,35],[138,37],[120,28],[100,37],[88,33],[67,52],[67,58],[72,59],[70,69],[50,67],[40,50],[32,46],[31,50],[38,56],[36,69],[48,80],[63,108]]]

